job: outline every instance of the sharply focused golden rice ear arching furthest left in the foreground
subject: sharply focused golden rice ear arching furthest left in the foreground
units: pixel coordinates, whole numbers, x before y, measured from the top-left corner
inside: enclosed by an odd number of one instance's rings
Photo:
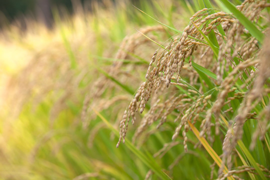
[[[173,41],[165,46],[164,50],[160,53],[155,51],[145,75],[146,81],[140,86],[137,94],[130,102],[127,109],[127,114],[131,114],[128,115],[128,117],[131,117],[132,122],[134,122],[135,111],[139,109],[139,112],[142,113],[146,102],[151,97],[152,91],[157,91],[161,82],[164,82],[166,87],[168,87],[170,84],[178,85],[177,83],[178,78],[180,77],[180,72],[182,69],[186,69],[186,67],[183,67],[185,57],[190,57],[198,46],[205,45],[205,43],[200,41],[203,39],[203,36],[198,32],[195,26],[201,26],[204,28],[205,34],[216,28],[216,25],[211,25],[206,28],[204,24],[209,19],[215,19],[215,24],[219,24],[222,21],[228,21],[231,23],[234,22],[232,17],[224,12],[208,14],[206,8],[202,9],[191,17],[193,22],[184,28],[183,33],[178,38],[174,38]],[[193,25],[194,22],[196,22],[195,25]],[[218,34],[219,33],[217,33],[217,35]],[[189,59],[191,60],[192,57]],[[194,70],[192,73],[197,75],[196,71]],[[174,75],[176,77],[174,77]],[[176,79],[177,83],[172,82],[172,79]],[[120,126],[120,128],[125,126],[125,129],[127,129],[127,125],[122,124]],[[125,134],[126,130],[123,130],[123,132]]]

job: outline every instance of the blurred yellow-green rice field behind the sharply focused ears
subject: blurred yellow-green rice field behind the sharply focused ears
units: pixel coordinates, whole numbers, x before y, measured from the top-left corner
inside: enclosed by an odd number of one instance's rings
[[[140,122],[135,121],[126,137],[131,142],[115,147],[123,112],[145,80],[153,53],[180,35],[173,28],[183,31],[201,9],[199,1],[1,1],[0,179],[217,178],[219,167],[211,165],[214,160],[192,131],[186,133],[187,142],[181,135],[171,141],[176,110],[166,114],[164,126],[156,129],[155,121],[138,137],[134,133]],[[218,2],[212,4],[226,9]],[[267,19],[259,23],[265,30]],[[147,114],[156,98],[164,102],[179,93],[174,87],[169,90],[152,97],[146,112],[136,118]],[[264,99],[267,105],[267,94]],[[257,126],[250,119],[244,126],[246,148],[255,131],[250,127]],[[221,129],[220,136],[212,132],[211,146],[218,155],[227,128]],[[265,139],[257,140],[258,147],[250,153],[268,178],[268,130]],[[237,150],[243,157],[235,157],[234,165],[252,166]],[[253,171],[255,176],[244,172],[240,177],[260,179]]]

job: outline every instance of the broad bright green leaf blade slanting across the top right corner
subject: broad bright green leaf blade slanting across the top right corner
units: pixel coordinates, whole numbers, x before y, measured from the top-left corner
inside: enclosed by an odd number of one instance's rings
[[[263,42],[263,33],[251,22],[247,17],[245,17],[230,1],[220,0],[240,21],[240,23],[250,32],[250,34],[255,37],[260,43]]]

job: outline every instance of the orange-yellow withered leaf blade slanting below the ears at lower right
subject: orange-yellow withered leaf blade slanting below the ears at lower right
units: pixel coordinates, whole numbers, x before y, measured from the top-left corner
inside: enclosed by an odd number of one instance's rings
[[[222,160],[220,159],[220,157],[216,154],[216,152],[212,149],[212,147],[209,145],[209,143],[206,141],[206,139],[204,137],[200,137],[199,136],[199,131],[196,129],[196,127],[188,120],[188,125],[190,126],[190,128],[192,129],[193,133],[195,134],[195,136],[198,138],[198,140],[200,141],[200,143],[203,145],[203,147],[206,149],[206,151],[208,152],[208,154],[213,158],[213,160],[215,161],[215,163],[221,167],[222,165]],[[227,173],[228,168],[226,166],[224,166],[223,172]],[[229,176],[228,179],[234,179],[232,176]]]

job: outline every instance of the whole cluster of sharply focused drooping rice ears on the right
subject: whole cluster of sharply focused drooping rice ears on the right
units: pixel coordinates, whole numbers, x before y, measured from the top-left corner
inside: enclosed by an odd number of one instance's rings
[[[249,20],[255,21],[266,6],[268,6],[266,0],[245,0],[237,8]],[[154,100],[151,101],[151,107],[144,114],[133,136],[133,142],[135,142],[135,139],[139,139],[139,136],[142,134],[145,140],[147,126],[159,120],[156,129],[158,130],[166,122],[168,114],[173,113],[173,110],[177,110],[178,115],[174,113],[176,116],[174,122],[179,122],[172,139],[175,140],[178,134],[181,133],[185,151],[187,151],[186,132],[190,130],[188,122],[194,124],[196,121],[200,121],[199,136],[201,138],[207,137],[212,142],[212,126],[215,127],[215,134],[219,134],[220,126],[225,119],[223,114],[233,111],[230,103],[235,99],[243,99],[238,109],[238,115],[230,126],[226,128],[227,134],[223,142],[222,161],[224,164],[220,167],[220,172],[222,172],[225,163],[228,164],[229,169],[231,168],[230,156],[237,140],[242,137],[243,123],[247,118],[254,118],[257,115],[250,112],[250,110],[258,102],[259,96],[269,91],[269,88],[263,88],[263,85],[265,84],[265,79],[269,77],[266,74],[270,68],[270,64],[268,64],[270,62],[265,60],[264,62],[263,59],[257,57],[258,52],[260,52],[258,40],[255,37],[246,36],[245,34],[249,32],[234,16],[225,12],[209,14],[208,11],[209,9],[207,8],[197,11],[190,18],[191,22],[184,28],[181,35],[174,37],[163,50],[153,53],[145,75],[146,80],[139,87],[120,122],[120,138],[117,145],[125,138],[129,118],[131,118],[133,123],[135,112],[139,111],[142,113],[144,111],[145,105],[152,96],[153,91],[161,92],[161,94],[155,96]],[[218,25],[222,26],[225,36],[218,32]],[[218,43],[218,53],[214,53],[211,50],[210,44],[205,42],[207,41],[205,39],[207,36],[205,35],[211,32],[214,33]],[[270,50],[267,49],[268,51],[265,51],[269,45],[266,42],[266,45],[263,46],[263,50],[260,53],[265,54],[265,56],[262,55],[261,58],[265,57],[266,59],[266,57],[270,56]],[[214,55],[216,56],[216,61],[213,59]],[[234,61],[234,59],[240,59],[240,61]],[[186,61],[188,61],[189,66],[184,64]],[[192,89],[192,85],[196,84],[200,77],[199,73],[201,73],[193,68],[192,62],[200,65],[202,68],[210,69],[216,75],[214,78],[212,77],[213,80],[211,79],[211,83],[216,85],[216,88],[218,87],[215,95],[202,95],[203,87],[198,90],[196,88]],[[264,64],[264,67],[261,66],[262,64]],[[259,65],[259,69],[261,68],[262,70],[257,72],[255,69]],[[264,76],[262,72],[265,72],[263,73]],[[243,76],[246,77],[243,78]],[[253,81],[254,77],[257,82],[254,81],[254,84],[251,85],[250,82]],[[190,81],[187,83],[182,79],[189,79]],[[239,79],[243,82],[240,88],[250,89],[248,93],[239,91],[238,87],[236,87],[237,85],[235,84]],[[206,82],[202,82],[202,85],[210,86]],[[174,89],[178,91],[174,91]],[[169,93],[168,95],[166,94],[167,92]],[[210,107],[207,107],[209,104]],[[269,116],[267,109],[261,113],[261,116]],[[265,124],[268,121],[264,120],[261,122],[263,122],[262,124],[266,128]],[[262,131],[265,132],[265,128]],[[260,133],[255,132],[254,134],[253,138],[256,138]],[[230,171],[226,173],[228,174]]]

